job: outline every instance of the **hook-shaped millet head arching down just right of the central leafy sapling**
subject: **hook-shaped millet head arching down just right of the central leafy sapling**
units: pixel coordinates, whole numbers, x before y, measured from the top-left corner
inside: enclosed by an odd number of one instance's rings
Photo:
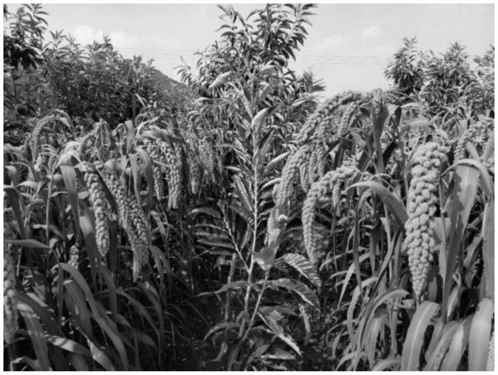
[[[318,262],[318,238],[314,236],[312,228],[316,203],[326,194],[332,192],[332,200],[334,204],[337,204],[342,185],[353,178],[358,172],[358,169],[354,166],[342,166],[334,171],[327,172],[325,176],[311,185],[303,203],[302,224],[304,247],[312,264]]]

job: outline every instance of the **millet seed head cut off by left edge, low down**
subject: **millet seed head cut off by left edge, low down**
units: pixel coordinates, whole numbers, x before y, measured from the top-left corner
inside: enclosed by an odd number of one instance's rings
[[[17,292],[15,291],[14,261],[10,246],[3,237],[3,340],[11,344],[17,331]]]

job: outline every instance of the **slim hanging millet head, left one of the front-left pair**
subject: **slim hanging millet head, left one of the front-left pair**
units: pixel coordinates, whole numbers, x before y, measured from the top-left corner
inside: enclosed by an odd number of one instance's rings
[[[90,192],[90,202],[95,212],[95,239],[99,253],[105,257],[109,251],[109,220],[107,217],[108,202],[104,187],[97,170],[88,162],[82,163],[85,183]]]

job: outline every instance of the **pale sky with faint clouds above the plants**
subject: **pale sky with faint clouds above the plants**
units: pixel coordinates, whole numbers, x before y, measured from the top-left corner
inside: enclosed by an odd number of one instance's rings
[[[9,6],[9,10],[17,5]],[[244,16],[262,4],[234,4]],[[142,55],[179,81],[180,57],[194,65],[194,53],[219,39],[216,4],[44,4],[49,30],[64,30],[81,44],[111,37],[124,57]],[[458,41],[470,55],[495,44],[494,4],[336,4],[321,3],[310,17],[308,38],[290,67],[312,70],[330,97],[347,90],[388,88],[386,63],[416,36],[421,50],[444,52]]]

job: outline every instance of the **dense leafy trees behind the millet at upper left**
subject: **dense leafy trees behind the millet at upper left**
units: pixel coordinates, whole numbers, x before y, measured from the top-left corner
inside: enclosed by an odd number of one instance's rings
[[[4,71],[11,70],[10,76],[4,75],[7,126],[29,132],[20,118],[60,108],[77,118],[82,130],[101,118],[114,128],[138,115],[144,102],[164,108],[164,120],[169,121],[187,107],[187,90],[172,80],[164,82],[152,61],[124,59],[108,37],[83,47],[56,31],[44,43],[41,15],[46,13],[41,5],[26,8],[19,7],[16,15],[6,13],[10,30],[4,32]]]

